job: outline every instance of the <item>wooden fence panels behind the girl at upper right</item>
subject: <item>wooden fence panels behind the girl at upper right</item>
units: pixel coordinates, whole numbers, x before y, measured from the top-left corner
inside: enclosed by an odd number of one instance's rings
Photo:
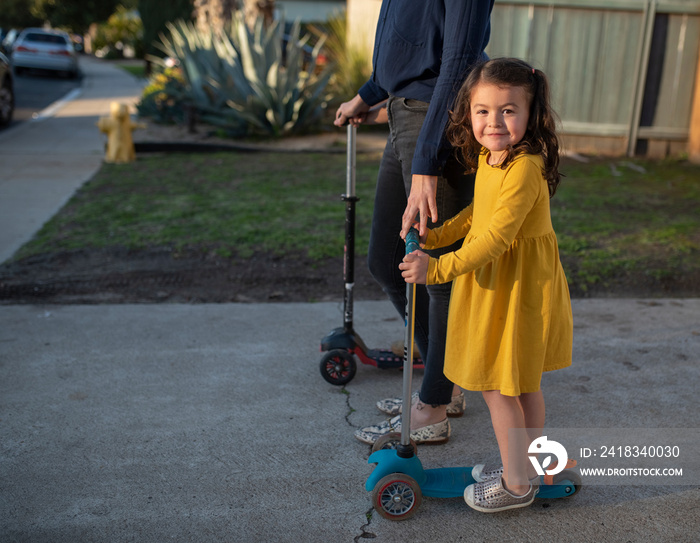
[[[490,56],[520,57],[549,75],[567,148],[686,150],[700,2],[497,0],[491,21]]]

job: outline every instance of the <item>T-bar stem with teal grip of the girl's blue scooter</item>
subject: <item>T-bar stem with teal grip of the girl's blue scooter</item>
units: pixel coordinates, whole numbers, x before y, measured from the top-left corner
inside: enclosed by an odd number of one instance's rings
[[[418,231],[411,228],[406,234],[406,254],[420,249]],[[413,387],[413,336],[415,333],[416,316],[416,285],[406,283],[406,337],[403,346],[403,396],[401,409],[401,441],[396,447],[396,454],[401,458],[411,458],[414,455],[411,445],[411,389]]]

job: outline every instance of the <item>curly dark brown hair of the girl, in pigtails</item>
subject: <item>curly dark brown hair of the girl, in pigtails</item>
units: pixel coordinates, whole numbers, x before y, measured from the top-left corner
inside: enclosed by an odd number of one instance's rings
[[[516,58],[495,58],[478,64],[462,84],[455,105],[450,111],[447,138],[460,149],[465,166],[476,171],[481,144],[476,141],[471,122],[471,94],[479,83],[498,87],[523,87],[530,100],[530,118],[523,139],[508,148],[501,167],[505,168],[521,153],[541,155],[544,159],[543,175],[549,187],[550,198],[557,191],[559,173],[559,138],[555,124],[556,114],[549,102],[549,82],[540,70]]]

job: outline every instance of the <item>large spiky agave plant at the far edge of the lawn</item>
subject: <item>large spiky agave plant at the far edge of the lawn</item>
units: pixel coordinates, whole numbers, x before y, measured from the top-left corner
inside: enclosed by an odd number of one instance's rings
[[[233,133],[282,136],[320,119],[332,73],[317,66],[324,37],[310,48],[299,21],[287,36],[284,28],[284,19],[265,27],[262,18],[249,28],[241,12],[224,32],[178,21],[161,35],[160,49],[182,67],[202,120]]]

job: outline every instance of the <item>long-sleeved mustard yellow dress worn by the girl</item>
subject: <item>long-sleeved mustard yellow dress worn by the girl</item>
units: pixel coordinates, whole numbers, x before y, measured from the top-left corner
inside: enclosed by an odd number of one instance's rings
[[[464,239],[430,259],[428,284],[452,284],[445,376],[467,390],[518,396],[542,372],[571,365],[569,288],[552,229],[539,156],[506,169],[479,159],[473,203],[431,230],[426,249]]]

